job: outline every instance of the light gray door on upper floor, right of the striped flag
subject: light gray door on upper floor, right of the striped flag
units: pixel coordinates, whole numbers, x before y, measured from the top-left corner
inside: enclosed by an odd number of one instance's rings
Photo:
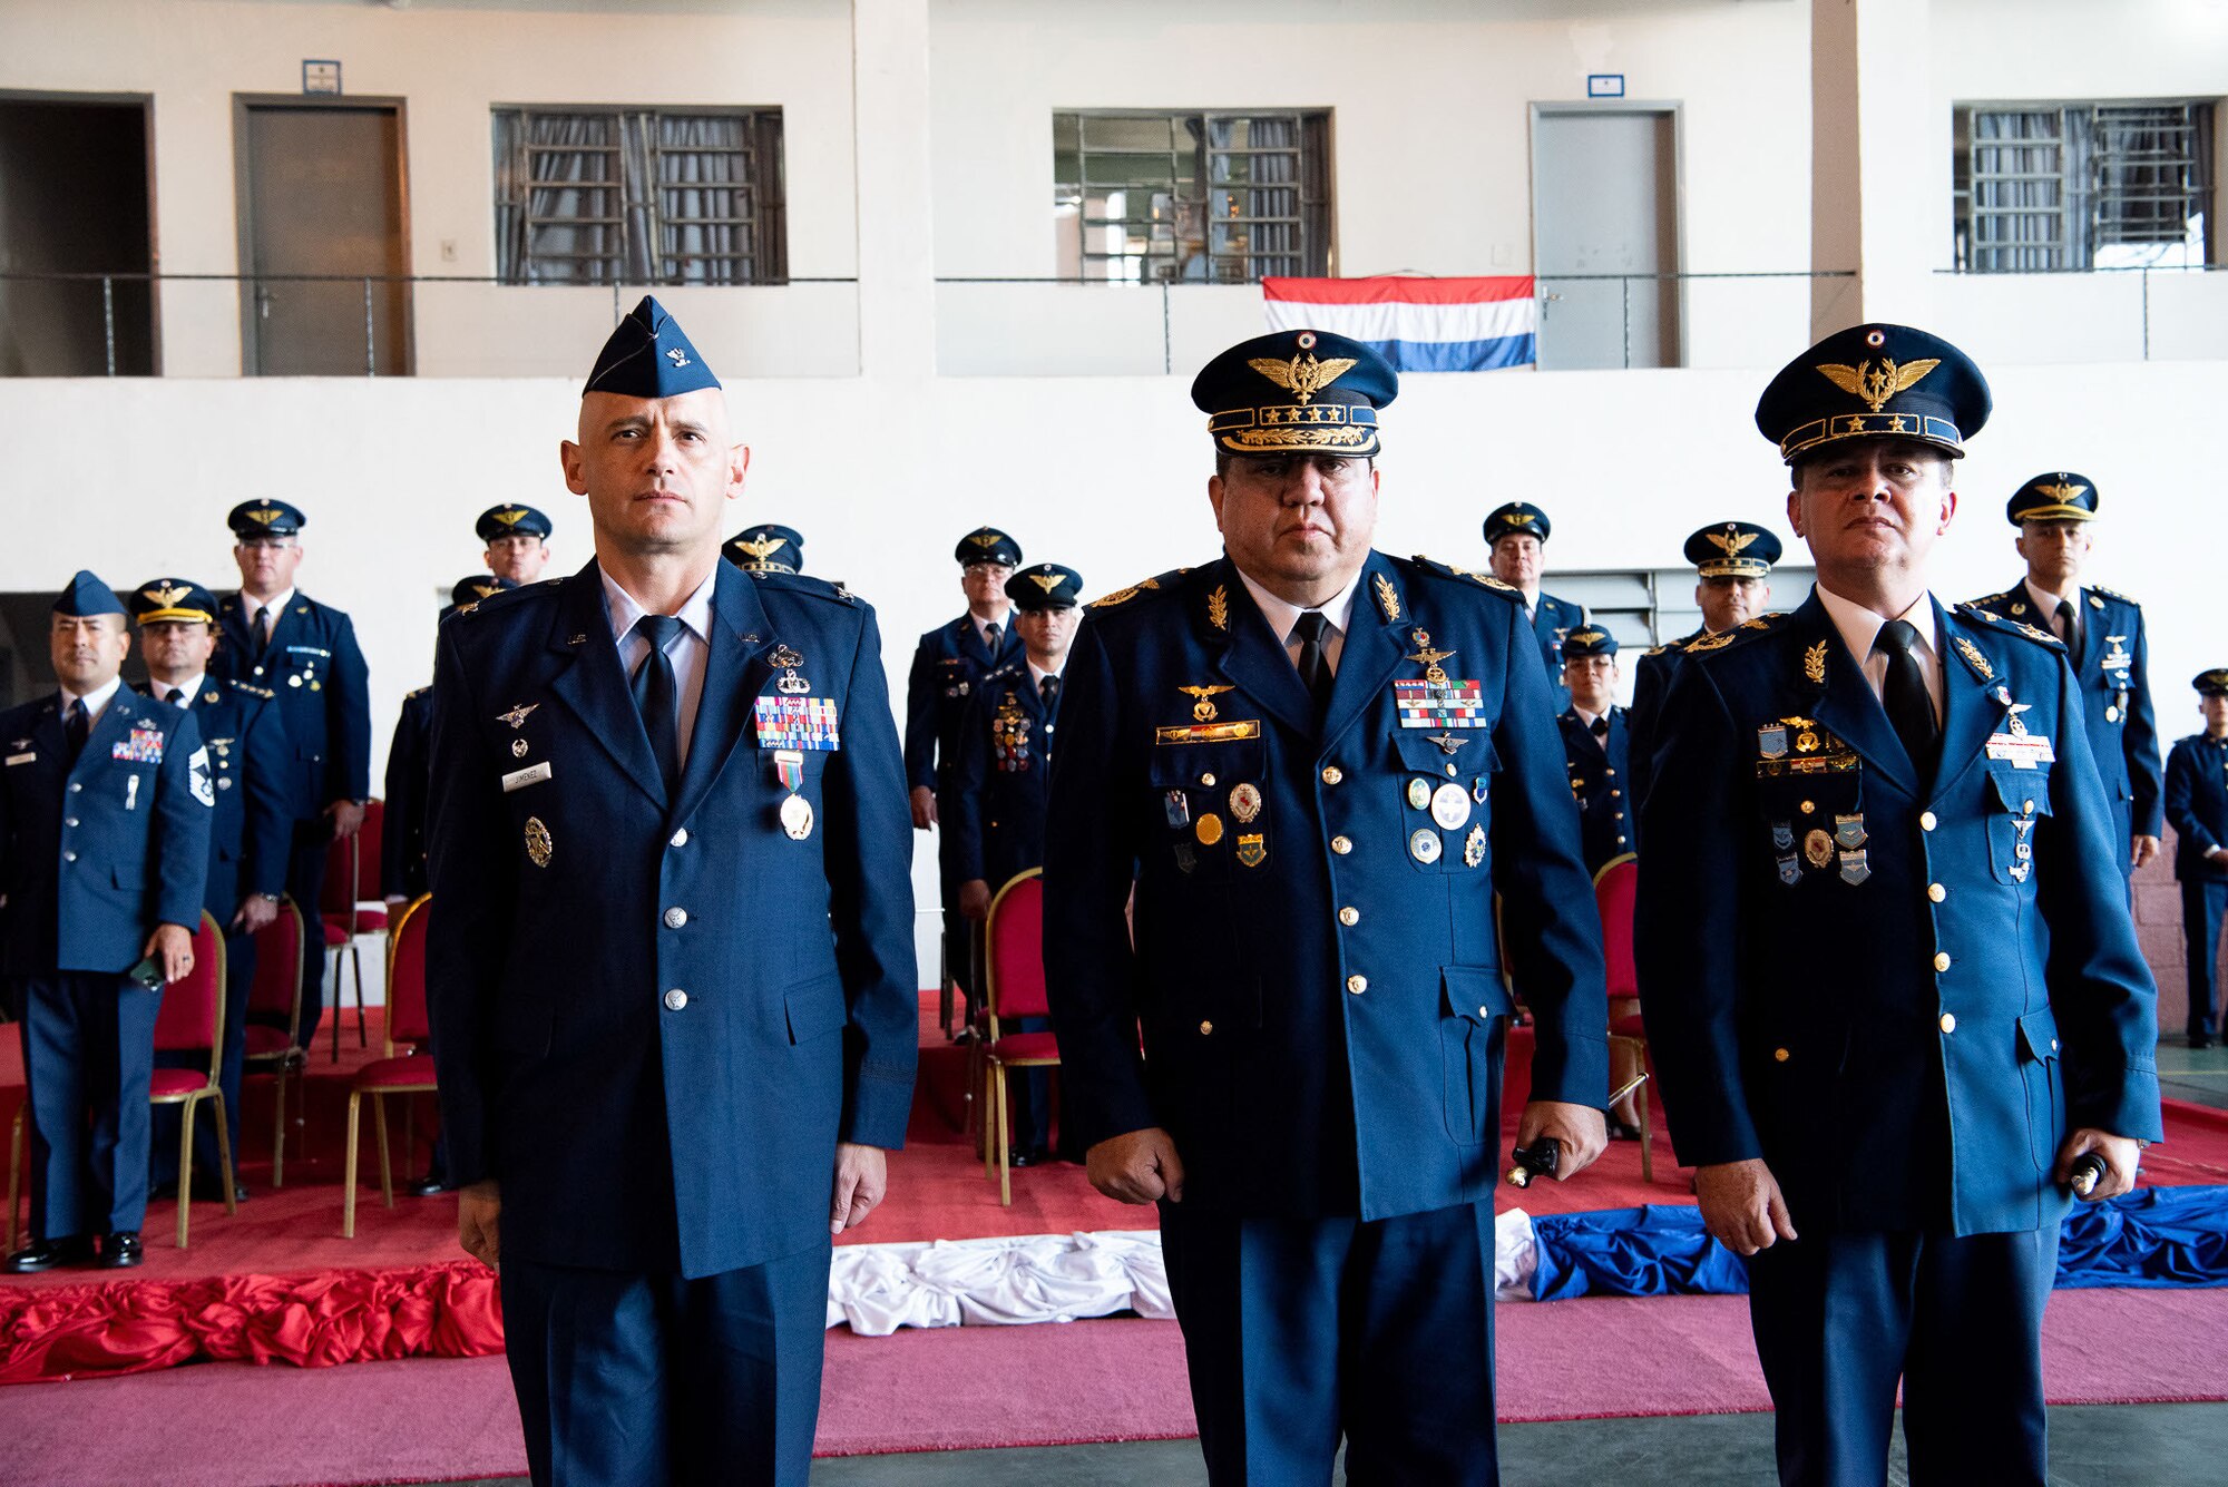
[[[1660,111],[1533,111],[1540,367],[1675,367],[1678,131]]]

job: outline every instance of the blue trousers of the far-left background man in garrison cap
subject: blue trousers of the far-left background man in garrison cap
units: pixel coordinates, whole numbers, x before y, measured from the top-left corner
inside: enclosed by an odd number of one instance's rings
[[[147,1218],[147,1077],[160,991],[58,971],[16,986],[31,1135],[31,1235],[136,1231]]]

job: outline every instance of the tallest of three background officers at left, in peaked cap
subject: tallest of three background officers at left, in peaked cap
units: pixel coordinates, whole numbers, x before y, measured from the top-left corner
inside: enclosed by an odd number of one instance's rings
[[[294,743],[285,781],[294,859],[285,890],[310,924],[301,937],[301,1046],[307,1048],[325,1013],[325,937],[316,933],[325,848],[356,835],[372,795],[370,674],[348,614],[294,588],[307,519],[285,501],[265,499],[234,505],[225,521],[241,588],[223,599],[214,670],[270,690]]]

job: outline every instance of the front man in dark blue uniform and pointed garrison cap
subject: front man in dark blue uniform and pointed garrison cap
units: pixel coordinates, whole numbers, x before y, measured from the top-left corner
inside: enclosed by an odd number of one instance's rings
[[[720,559],[749,450],[653,298],[564,443],[595,561],[441,626],[428,993],[535,1483],[798,1483],[920,1004],[873,612]]]

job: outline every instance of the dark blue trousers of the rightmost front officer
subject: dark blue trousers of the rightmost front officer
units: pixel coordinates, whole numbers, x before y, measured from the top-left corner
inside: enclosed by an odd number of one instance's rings
[[[1880,1487],[1903,1385],[1914,1487],[2043,1487],[2043,1302],[2059,1227],[1820,1233],[1749,1260],[1780,1483]]]

